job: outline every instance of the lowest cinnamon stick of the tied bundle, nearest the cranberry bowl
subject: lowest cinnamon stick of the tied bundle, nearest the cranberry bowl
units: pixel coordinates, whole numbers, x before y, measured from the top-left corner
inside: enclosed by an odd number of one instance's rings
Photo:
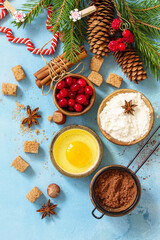
[[[83,60],[84,58],[87,57],[87,51],[84,49],[84,50],[79,54],[78,57],[79,57],[79,59],[77,60],[76,63],[80,62],[81,60]],[[66,63],[66,66],[67,66],[67,68],[69,69],[69,68],[71,68],[74,64],[75,64],[75,63],[69,61],[68,63]],[[56,72],[57,74],[59,74],[62,69],[65,69],[65,67],[62,66],[61,68],[55,69],[55,72]],[[48,70],[48,73],[49,73],[49,70]],[[52,73],[52,77],[54,77],[54,76],[55,76],[55,73],[53,72],[53,73]],[[41,87],[42,87],[43,85],[45,85],[45,84],[49,85],[50,82],[51,82],[51,76],[50,76],[50,75],[47,75],[47,76],[46,76],[45,78],[43,78],[42,80],[40,80],[40,79],[36,79],[36,80],[35,80],[35,83],[36,83],[36,85],[37,85],[39,88],[41,88]]]

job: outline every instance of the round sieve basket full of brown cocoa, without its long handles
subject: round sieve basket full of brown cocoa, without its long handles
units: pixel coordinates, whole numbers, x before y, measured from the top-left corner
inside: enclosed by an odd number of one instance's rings
[[[141,197],[141,184],[130,169],[110,165],[99,170],[90,184],[90,197],[94,205],[92,215],[120,217],[130,213]],[[95,211],[101,212],[100,216]]]

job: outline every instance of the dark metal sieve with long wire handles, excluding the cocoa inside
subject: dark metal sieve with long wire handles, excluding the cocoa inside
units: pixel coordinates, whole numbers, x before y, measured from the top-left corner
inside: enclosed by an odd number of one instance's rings
[[[120,217],[120,216],[123,216],[123,215],[126,215],[126,214],[130,213],[137,206],[137,204],[140,200],[140,197],[141,197],[141,184],[140,184],[140,181],[139,181],[136,173],[146,163],[146,161],[150,158],[150,156],[153,154],[153,152],[158,148],[158,146],[160,145],[160,142],[158,142],[157,145],[152,149],[152,151],[148,154],[148,156],[144,159],[144,161],[141,163],[141,165],[137,168],[136,171],[133,172],[131,169],[129,169],[129,167],[134,162],[134,160],[137,158],[137,156],[140,154],[140,152],[144,149],[144,147],[148,144],[150,139],[158,131],[159,128],[160,128],[160,125],[155,129],[155,131],[152,133],[152,135],[149,137],[149,139],[144,143],[144,145],[137,152],[135,157],[129,162],[127,167],[121,166],[121,165],[109,165],[107,167],[102,168],[101,170],[99,170],[94,175],[94,177],[92,178],[91,184],[90,184],[90,198],[91,198],[91,201],[92,201],[92,203],[95,207],[92,211],[92,215],[95,218],[101,219],[104,215],[108,215],[108,216],[111,216],[111,217]],[[122,210],[122,211],[118,211],[117,209],[113,209],[113,208],[109,208],[109,207],[108,208],[102,207],[95,197],[95,193],[94,193],[95,183],[97,182],[98,178],[100,176],[102,176],[102,174],[106,173],[106,171],[108,171],[110,169],[117,169],[117,170],[126,171],[127,173],[129,173],[132,176],[132,178],[134,179],[134,181],[136,183],[136,186],[137,186],[137,195],[136,195],[136,198],[135,198],[134,202],[128,208],[126,208],[125,210]],[[100,216],[96,216],[95,215],[96,210],[98,210],[102,214]]]

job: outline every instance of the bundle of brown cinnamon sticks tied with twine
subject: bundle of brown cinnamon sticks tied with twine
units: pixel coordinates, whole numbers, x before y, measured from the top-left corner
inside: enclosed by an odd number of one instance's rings
[[[75,63],[73,63],[72,61],[67,61],[67,59],[64,58],[65,53],[63,53],[59,57],[57,57],[55,60],[51,60],[50,63],[52,65],[52,68],[54,69],[54,71],[52,71],[51,74],[50,74],[48,65],[44,66],[39,71],[34,73],[34,76],[36,77],[36,80],[35,80],[36,85],[39,88],[41,88],[44,85],[49,86],[52,81],[51,76],[55,77],[57,74],[60,74],[62,70],[66,70],[66,67],[67,69],[70,69],[74,64],[86,58],[87,51],[84,49],[83,46],[80,48],[80,50],[81,52],[78,55],[77,61]]]

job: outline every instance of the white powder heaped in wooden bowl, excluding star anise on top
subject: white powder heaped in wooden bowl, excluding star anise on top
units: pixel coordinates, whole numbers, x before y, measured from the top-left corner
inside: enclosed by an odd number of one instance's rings
[[[134,115],[124,113],[125,100],[137,106]],[[140,93],[120,93],[106,103],[100,113],[102,129],[113,138],[131,142],[143,137],[150,126],[150,110]]]

